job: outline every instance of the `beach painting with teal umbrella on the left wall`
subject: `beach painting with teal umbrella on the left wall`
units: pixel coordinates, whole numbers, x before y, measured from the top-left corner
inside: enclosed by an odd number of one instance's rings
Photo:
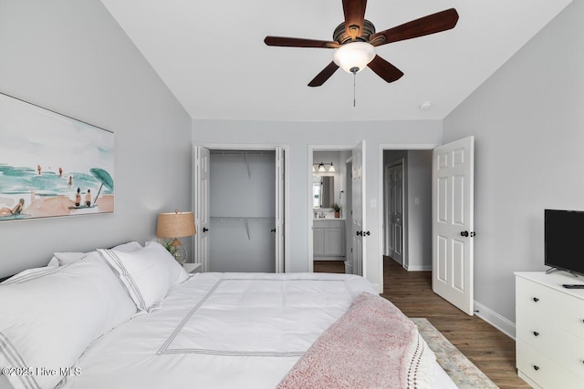
[[[114,210],[114,137],[0,93],[0,221]]]

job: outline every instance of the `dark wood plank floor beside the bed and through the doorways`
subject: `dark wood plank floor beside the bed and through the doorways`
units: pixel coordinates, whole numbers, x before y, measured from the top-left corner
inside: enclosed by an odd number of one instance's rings
[[[344,272],[342,261],[315,261],[314,271]],[[408,317],[425,317],[500,388],[529,388],[517,376],[515,341],[432,292],[430,271],[405,271],[383,259],[383,293]]]

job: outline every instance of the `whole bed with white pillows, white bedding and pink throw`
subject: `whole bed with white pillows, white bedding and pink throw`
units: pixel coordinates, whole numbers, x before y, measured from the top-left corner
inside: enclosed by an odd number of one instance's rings
[[[0,387],[456,387],[359,276],[187,274],[155,242],[49,265],[0,284]]]

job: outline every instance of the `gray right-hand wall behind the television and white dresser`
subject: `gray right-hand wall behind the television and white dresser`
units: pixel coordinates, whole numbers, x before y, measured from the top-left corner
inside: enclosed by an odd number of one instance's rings
[[[474,298],[515,322],[514,271],[544,267],[544,209],[584,210],[584,2],[443,121],[475,136]]]

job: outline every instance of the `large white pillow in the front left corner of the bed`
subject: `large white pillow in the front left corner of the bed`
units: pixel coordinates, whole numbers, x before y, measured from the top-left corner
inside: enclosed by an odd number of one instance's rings
[[[8,375],[16,389],[55,387],[91,342],[136,313],[97,252],[52,269],[0,285],[0,366],[33,373]],[[39,367],[50,373],[36,374]]]

